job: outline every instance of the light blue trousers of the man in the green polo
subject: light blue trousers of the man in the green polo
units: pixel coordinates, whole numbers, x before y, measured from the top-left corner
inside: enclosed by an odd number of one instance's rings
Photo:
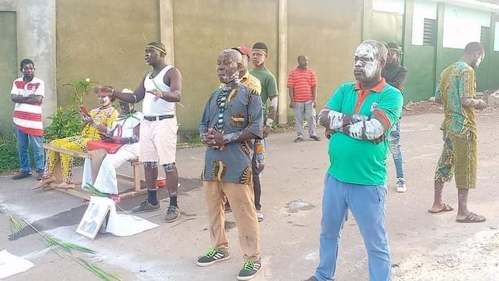
[[[343,223],[350,209],[364,239],[369,259],[369,280],[390,279],[390,252],[385,227],[386,185],[353,185],[329,173],[324,180],[318,280],[333,280]]]

